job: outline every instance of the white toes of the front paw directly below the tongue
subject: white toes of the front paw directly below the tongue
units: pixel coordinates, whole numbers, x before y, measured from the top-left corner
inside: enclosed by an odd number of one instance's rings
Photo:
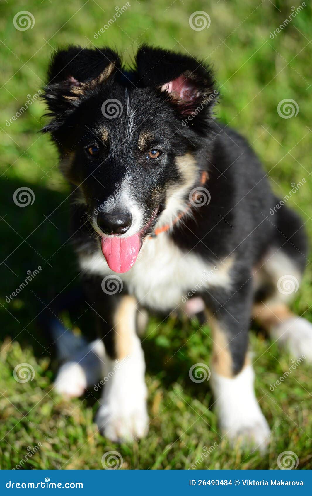
[[[149,417],[145,399],[137,402],[113,401],[101,405],[96,415],[96,423],[104,437],[113,442],[140,439],[148,432]]]

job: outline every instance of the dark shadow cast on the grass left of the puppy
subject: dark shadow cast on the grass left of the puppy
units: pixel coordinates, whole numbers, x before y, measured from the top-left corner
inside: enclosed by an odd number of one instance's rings
[[[68,241],[66,196],[3,176],[0,180],[0,294],[4,303],[0,339],[17,338],[22,346],[32,346],[37,357],[50,356],[46,336],[36,326],[43,302],[49,303],[67,285],[77,283]],[[28,201],[27,206],[16,204]]]

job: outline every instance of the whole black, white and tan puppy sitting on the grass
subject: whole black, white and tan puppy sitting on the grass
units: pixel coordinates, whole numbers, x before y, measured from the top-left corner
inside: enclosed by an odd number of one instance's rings
[[[104,377],[96,422],[115,441],[149,425],[146,310],[205,310],[216,411],[233,441],[262,448],[270,433],[248,359],[251,319],[312,359],[312,325],[283,289],[305,267],[302,223],[245,139],[215,120],[217,95],[207,64],[145,45],[132,70],[106,48],[69,47],[50,64],[45,131],[72,187],[71,234],[100,332],[71,355],[54,326],[66,359],[55,387],[79,396]]]

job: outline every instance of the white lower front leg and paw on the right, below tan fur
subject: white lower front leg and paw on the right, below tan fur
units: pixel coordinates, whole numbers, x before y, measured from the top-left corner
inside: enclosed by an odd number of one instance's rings
[[[251,366],[233,378],[211,373],[211,384],[222,434],[231,444],[265,450],[270,429],[260,410],[254,392],[254,371]]]

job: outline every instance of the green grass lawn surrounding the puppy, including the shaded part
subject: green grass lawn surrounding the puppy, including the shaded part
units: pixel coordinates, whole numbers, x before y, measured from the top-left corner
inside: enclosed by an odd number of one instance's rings
[[[272,40],[271,31],[299,2],[246,1],[130,1],[131,7],[98,39],[94,32],[112,18],[118,5],[108,0],[61,2],[2,1],[1,41],[1,328],[0,328],[0,466],[13,468],[33,448],[40,449],[24,468],[102,469],[109,450],[123,457],[123,469],[190,468],[201,459],[203,447],[216,446],[198,468],[277,468],[279,453],[291,450],[298,468],[312,468],[311,368],[300,365],[274,391],[269,385],[288,370],[290,357],[262,335],[251,337],[256,390],[261,408],[273,431],[267,454],[230,449],[217,431],[209,383],[189,378],[191,365],[209,364],[209,329],[170,318],[152,320],[144,341],[149,387],[150,432],[142,442],[114,445],[96,432],[93,417],[97,398],[89,391],[67,402],[52,391],[53,357],[36,328],[39,299],[49,301],[66,286],[78,284],[78,269],[67,234],[68,188],[57,170],[57,156],[47,135],[44,107],[38,100],[10,126],[5,123],[43,85],[53,48],[67,43],[101,46],[124,52],[130,62],[142,41],[167,49],[209,58],[217,71],[222,101],[218,116],[246,135],[269,172],[272,188],[280,197],[291,183],[307,183],[289,200],[312,237],[311,205],[311,7],[303,11]],[[308,3],[308,2],[307,2]],[[274,6],[274,5],[275,6]],[[26,5],[26,6],[25,6]],[[27,8],[35,18],[32,29],[18,31],[14,15]],[[208,29],[189,26],[192,12],[208,12]],[[278,103],[294,99],[296,117],[282,119]],[[25,208],[13,202],[13,193],[30,187],[35,201]],[[49,220],[46,219],[49,216]],[[6,303],[10,295],[38,266],[42,271]],[[311,264],[294,310],[312,321]],[[77,309],[77,317],[85,309]],[[65,315],[67,320],[74,317]],[[87,325],[89,314],[75,326]],[[182,345],[182,346],[181,346]],[[13,370],[30,364],[35,377],[19,383]],[[97,393],[99,394],[99,393]],[[216,443],[216,444],[214,444]]]

